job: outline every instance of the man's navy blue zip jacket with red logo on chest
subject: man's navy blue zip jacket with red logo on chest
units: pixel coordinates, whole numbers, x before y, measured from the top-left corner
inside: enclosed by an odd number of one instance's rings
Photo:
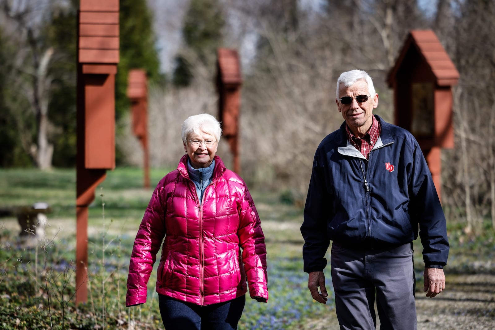
[[[446,220],[423,153],[407,130],[375,118],[382,130],[369,160],[347,141],[345,122],[316,150],[301,225],[304,272],[323,271],[331,240],[387,248],[412,242],[418,229],[425,266],[446,265]]]

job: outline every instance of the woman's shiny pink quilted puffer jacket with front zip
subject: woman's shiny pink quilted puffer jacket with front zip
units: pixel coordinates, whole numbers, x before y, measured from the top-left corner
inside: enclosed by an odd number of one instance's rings
[[[131,255],[126,306],[146,302],[163,237],[156,292],[209,305],[245,294],[247,277],[250,296],[268,300],[265,239],[245,182],[215,156],[201,205],[187,160],[160,180],[149,201]]]

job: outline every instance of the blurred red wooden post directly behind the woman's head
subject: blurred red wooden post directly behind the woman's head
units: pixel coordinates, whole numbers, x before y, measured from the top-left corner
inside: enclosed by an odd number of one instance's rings
[[[234,172],[241,172],[239,160],[239,109],[241,105],[241,66],[236,50],[219,48],[217,51],[218,117],[223,137],[234,157]]]

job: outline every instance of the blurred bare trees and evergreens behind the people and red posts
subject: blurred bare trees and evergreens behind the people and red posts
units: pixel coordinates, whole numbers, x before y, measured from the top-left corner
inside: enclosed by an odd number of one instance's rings
[[[0,166],[75,166],[77,0],[0,0]],[[314,151],[343,118],[341,72],[374,78],[375,113],[393,121],[389,70],[411,29],[433,29],[460,73],[455,148],[443,150],[447,219],[466,233],[495,227],[494,0],[121,0],[116,79],[117,166],[141,166],[127,73],[149,78],[150,163],[173,168],[180,126],[217,114],[216,49],[243,64],[241,175],[302,205]],[[218,154],[229,166],[228,147]]]

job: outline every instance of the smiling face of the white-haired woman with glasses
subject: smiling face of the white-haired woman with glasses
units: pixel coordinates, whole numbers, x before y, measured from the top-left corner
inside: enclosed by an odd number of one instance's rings
[[[191,141],[199,141],[196,146]],[[208,147],[204,142],[213,141],[213,145]],[[194,168],[208,167],[213,162],[213,158],[217,152],[218,141],[213,134],[200,130],[199,133],[191,133],[188,135],[187,143],[184,144],[184,150],[189,155],[191,165]]]

